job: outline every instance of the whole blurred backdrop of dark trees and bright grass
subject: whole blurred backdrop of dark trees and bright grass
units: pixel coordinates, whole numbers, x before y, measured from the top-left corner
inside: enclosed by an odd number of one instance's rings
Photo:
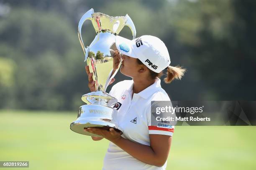
[[[128,13],[137,37],[165,42],[171,64],[187,68],[182,81],[162,84],[172,100],[255,100],[256,1],[0,0],[0,160],[28,160],[30,169],[102,167],[108,141],[69,130],[89,92],[77,26],[90,8]],[[90,21],[82,31],[90,45]],[[120,35],[132,37],[128,28]],[[167,170],[253,170],[255,130],[177,127]]]

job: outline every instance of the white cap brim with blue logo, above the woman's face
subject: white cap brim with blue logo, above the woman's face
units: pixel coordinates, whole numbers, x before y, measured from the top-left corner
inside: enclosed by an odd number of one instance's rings
[[[129,57],[138,58],[133,52],[133,43],[133,40],[128,40],[120,36],[115,37],[115,45],[120,53]]]

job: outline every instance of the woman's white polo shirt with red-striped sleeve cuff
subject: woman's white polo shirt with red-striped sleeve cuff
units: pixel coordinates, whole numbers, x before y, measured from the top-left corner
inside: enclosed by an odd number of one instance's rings
[[[145,90],[134,93],[133,98],[133,80],[124,80],[112,87],[110,95],[118,99],[118,104],[115,105],[118,109],[115,121],[123,131],[123,138],[150,146],[149,134],[172,136],[174,126],[151,126],[151,101],[170,101],[160,82],[161,80],[157,79]],[[162,167],[148,165],[110,142],[102,170],[165,170],[166,163]]]

